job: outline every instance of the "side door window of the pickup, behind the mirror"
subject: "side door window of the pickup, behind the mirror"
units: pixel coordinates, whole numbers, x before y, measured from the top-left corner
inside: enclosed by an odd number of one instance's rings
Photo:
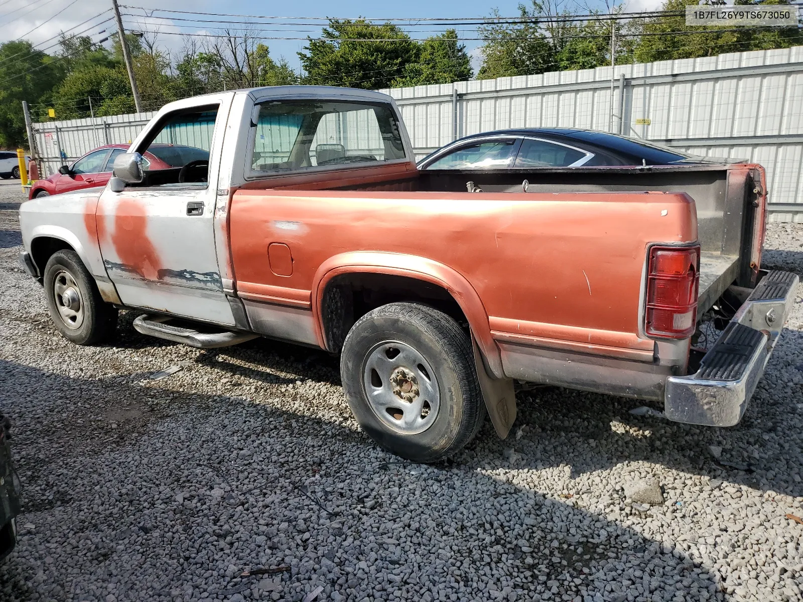
[[[218,108],[180,111],[167,117],[140,149],[145,186],[206,187],[209,153]]]

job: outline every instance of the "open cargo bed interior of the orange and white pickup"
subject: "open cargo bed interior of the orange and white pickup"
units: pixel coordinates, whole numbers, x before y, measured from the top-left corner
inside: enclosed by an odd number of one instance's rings
[[[389,166],[388,166],[389,167]],[[730,287],[751,287],[754,270],[746,251],[756,235],[758,173],[744,165],[661,165],[563,169],[443,169],[400,173],[349,184],[320,177],[279,177],[251,181],[246,188],[398,190],[426,192],[561,193],[684,192],[695,200],[701,246],[698,315],[708,311]],[[763,223],[763,220],[759,220]]]

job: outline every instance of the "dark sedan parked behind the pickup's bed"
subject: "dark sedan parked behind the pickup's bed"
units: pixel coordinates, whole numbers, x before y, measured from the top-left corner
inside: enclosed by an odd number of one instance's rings
[[[695,157],[649,140],[606,132],[533,128],[466,136],[418,161],[418,169],[533,169],[722,162],[737,161]]]

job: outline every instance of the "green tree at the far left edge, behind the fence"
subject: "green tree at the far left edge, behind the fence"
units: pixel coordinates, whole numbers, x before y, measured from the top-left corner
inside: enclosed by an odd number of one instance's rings
[[[22,100],[48,102],[62,70],[53,57],[35,50],[26,40],[0,45],[0,146],[27,146]]]

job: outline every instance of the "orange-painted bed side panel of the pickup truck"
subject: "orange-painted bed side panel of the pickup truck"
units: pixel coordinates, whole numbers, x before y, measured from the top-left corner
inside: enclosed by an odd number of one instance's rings
[[[357,265],[339,268],[336,258],[402,254],[411,258],[405,273],[437,280],[456,275],[467,283],[446,281],[458,303],[471,306],[463,311],[483,347],[491,340],[490,315],[546,330],[572,327],[573,340],[590,335],[595,344],[646,351],[651,342],[638,340],[638,315],[647,246],[696,240],[695,205],[684,193],[241,189],[230,207],[239,291],[312,291],[317,318],[316,301],[328,280],[324,265],[327,273],[358,271]],[[290,247],[291,276],[271,272],[271,242]],[[394,265],[390,258],[388,265]],[[433,276],[435,266],[446,267],[446,275]],[[516,332],[511,322],[495,326]]]

